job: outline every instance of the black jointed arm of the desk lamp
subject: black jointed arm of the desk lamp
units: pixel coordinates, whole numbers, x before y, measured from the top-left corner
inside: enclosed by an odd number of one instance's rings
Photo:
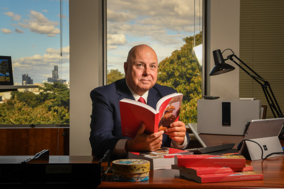
[[[250,74],[247,70],[245,70],[243,68],[243,66],[241,66],[239,63],[237,63],[234,58],[237,58],[247,69],[249,69],[253,74]],[[258,75],[255,71],[253,71],[248,65],[246,65],[239,57],[237,57],[235,54],[229,55],[227,57],[227,59],[231,60],[232,62],[234,62],[237,66],[239,66],[247,75],[249,75],[250,77],[252,77],[255,81],[257,81],[261,86],[262,89],[264,91],[264,95],[265,98],[267,100],[267,103],[271,109],[271,112],[273,113],[274,117],[276,118],[276,114],[274,113],[274,111],[276,111],[278,117],[284,117],[283,113],[281,112],[280,106],[272,92],[272,89],[270,87],[270,83],[268,81],[266,81],[263,77],[261,77],[260,75]],[[264,83],[262,83],[261,81],[263,81]],[[268,89],[267,89],[268,88]],[[271,95],[270,95],[271,94]],[[276,104],[276,106],[275,106]]]

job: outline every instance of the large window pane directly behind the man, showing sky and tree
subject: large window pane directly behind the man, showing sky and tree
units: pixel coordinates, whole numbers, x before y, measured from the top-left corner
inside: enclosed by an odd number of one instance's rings
[[[124,77],[123,63],[133,46],[147,44],[158,56],[157,83],[183,93],[180,118],[196,123],[202,98],[202,3],[107,0],[107,83]]]

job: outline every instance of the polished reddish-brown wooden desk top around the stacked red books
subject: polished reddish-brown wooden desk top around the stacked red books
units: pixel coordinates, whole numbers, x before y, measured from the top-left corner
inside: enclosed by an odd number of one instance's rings
[[[236,145],[243,139],[243,136],[212,135],[202,134],[203,141],[206,145],[220,145],[235,143]],[[284,146],[284,141],[281,141]],[[272,157],[266,160],[249,161],[254,170],[264,174],[264,180],[236,181],[236,182],[219,182],[200,184],[195,181],[180,178],[179,170],[150,170],[148,181],[127,183],[115,182],[112,175],[108,174],[101,182],[98,189],[267,189],[267,188],[284,188],[284,156]]]

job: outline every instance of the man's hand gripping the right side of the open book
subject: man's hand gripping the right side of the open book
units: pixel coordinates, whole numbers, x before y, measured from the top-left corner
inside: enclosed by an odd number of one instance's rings
[[[171,123],[170,128],[167,128],[165,132],[172,140],[175,140],[178,145],[183,145],[186,129],[182,121]]]

